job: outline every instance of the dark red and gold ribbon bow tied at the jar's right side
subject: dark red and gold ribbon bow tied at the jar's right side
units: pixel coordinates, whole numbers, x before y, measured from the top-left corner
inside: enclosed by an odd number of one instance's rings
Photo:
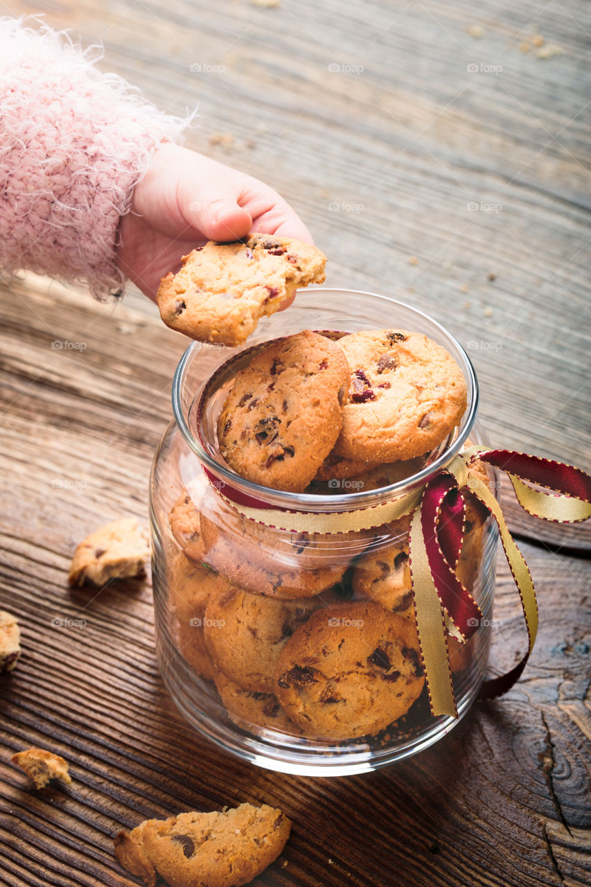
[[[414,608],[431,713],[454,718],[458,711],[445,631],[465,643],[482,619],[476,601],[455,574],[464,530],[462,490],[472,492],[497,522],[524,610],[529,641],[527,652],[514,668],[485,681],[480,699],[493,699],[515,684],[532,653],[538,631],[538,604],[524,556],[508,531],[493,493],[483,481],[468,473],[477,459],[507,472],[519,505],[529,514],[555,522],[580,522],[591,517],[589,475],[571,465],[510,450],[471,446],[425,485],[421,503],[414,510],[408,545]],[[524,481],[554,492],[534,490]]]

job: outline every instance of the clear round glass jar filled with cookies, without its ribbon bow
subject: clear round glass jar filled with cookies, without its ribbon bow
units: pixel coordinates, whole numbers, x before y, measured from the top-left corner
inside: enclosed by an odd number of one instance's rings
[[[328,460],[303,493],[251,483],[226,465],[217,416],[253,349],[304,329],[338,338],[386,327],[428,335],[464,374],[467,409],[436,451],[353,476]],[[477,405],[460,344],[422,312],[381,295],[304,291],[265,318],[246,346],[189,346],[173,384],[175,418],[154,459],[150,522],[162,678],[201,734],[271,770],[336,776],[413,755],[458,722],[429,712],[410,518],[343,530],[343,517],[420,492],[468,443],[484,443]],[[475,470],[497,480],[490,468]],[[498,538],[476,499],[467,501],[465,530],[456,571],[483,620],[468,644],[447,638],[459,718],[485,675]]]

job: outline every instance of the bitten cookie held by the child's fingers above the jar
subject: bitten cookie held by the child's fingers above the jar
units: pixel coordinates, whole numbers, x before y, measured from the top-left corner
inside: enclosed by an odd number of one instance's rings
[[[249,234],[209,240],[162,278],[156,302],[167,326],[200,341],[240,345],[297,287],[322,283],[327,257],[301,240]]]

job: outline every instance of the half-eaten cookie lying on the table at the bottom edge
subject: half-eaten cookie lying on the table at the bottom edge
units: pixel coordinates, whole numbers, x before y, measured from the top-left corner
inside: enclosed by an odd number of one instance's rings
[[[291,822],[268,805],[146,820],[114,838],[122,867],[155,887],[240,887],[260,875],[287,844]]]

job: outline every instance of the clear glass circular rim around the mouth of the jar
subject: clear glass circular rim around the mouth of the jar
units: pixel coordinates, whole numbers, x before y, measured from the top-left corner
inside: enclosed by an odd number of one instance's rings
[[[177,428],[179,428],[185,442],[200,460],[202,466],[207,467],[209,471],[217,475],[220,480],[224,480],[225,483],[230,487],[233,487],[235,490],[248,495],[250,498],[262,500],[265,505],[276,506],[282,510],[308,510],[314,512],[351,511],[357,510],[358,508],[373,506],[382,502],[384,499],[398,497],[406,491],[427,483],[431,477],[437,475],[439,471],[445,468],[445,465],[461,452],[477,418],[478,381],[474,366],[472,365],[466,350],[461,346],[460,342],[457,341],[455,336],[445,329],[445,326],[442,326],[437,320],[431,318],[424,311],[414,308],[413,305],[409,305],[406,302],[400,302],[398,299],[392,299],[388,295],[371,293],[365,290],[344,289],[341,287],[314,287],[307,290],[298,290],[296,297],[301,303],[306,296],[316,297],[317,295],[321,296],[322,294],[328,293],[343,295],[354,294],[388,302],[390,308],[391,306],[398,306],[401,309],[410,311],[416,317],[422,318],[427,321],[429,325],[436,328],[445,340],[453,346],[453,349],[456,352],[453,357],[460,363],[461,371],[467,382],[468,407],[462,417],[460,430],[452,443],[450,443],[444,451],[439,453],[436,459],[422,467],[422,469],[416,472],[416,474],[398,481],[397,483],[391,483],[389,486],[380,487],[378,490],[356,491],[338,495],[332,493],[323,495],[319,493],[299,493],[273,490],[271,487],[265,487],[262,484],[248,481],[246,478],[240,477],[240,475],[233,471],[230,466],[221,464],[216,459],[213,459],[199,440],[199,437],[193,434],[189,422],[189,411],[185,411],[183,389],[186,375],[189,372],[193,360],[198,356],[199,351],[202,348],[202,342],[191,342],[178,362],[177,370],[172,381],[172,411],[177,423]],[[280,336],[278,335],[270,335],[268,341],[272,341],[279,337]],[[244,345],[240,347],[240,351],[246,350],[250,347],[251,345],[249,345],[248,342],[245,342]],[[240,351],[236,351],[235,353],[238,354]],[[221,366],[224,363],[225,361],[220,361],[219,365]],[[211,377],[209,376],[208,379],[205,380],[203,388],[209,383],[210,378]],[[198,391],[194,391],[193,395],[197,396],[198,393]]]

